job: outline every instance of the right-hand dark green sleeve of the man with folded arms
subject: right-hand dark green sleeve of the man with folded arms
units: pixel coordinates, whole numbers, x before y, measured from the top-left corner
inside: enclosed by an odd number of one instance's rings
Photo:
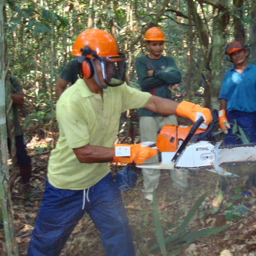
[[[159,78],[166,83],[180,83],[181,74],[172,57],[168,58],[168,66],[165,70],[155,70],[154,77]]]

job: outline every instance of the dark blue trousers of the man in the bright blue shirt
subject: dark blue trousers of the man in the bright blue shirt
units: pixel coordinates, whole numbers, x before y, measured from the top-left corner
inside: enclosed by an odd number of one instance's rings
[[[231,129],[228,129],[228,134],[224,139],[226,145],[242,143],[240,137],[232,133],[234,120],[237,121],[237,125],[242,128],[250,142],[256,142],[256,112],[228,111],[227,119],[231,123]]]

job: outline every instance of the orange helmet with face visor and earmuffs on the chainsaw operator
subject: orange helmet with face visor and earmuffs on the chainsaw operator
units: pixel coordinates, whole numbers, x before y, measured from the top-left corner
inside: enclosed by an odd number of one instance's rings
[[[71,54],[78,57],[80,77],[95,77],[97,84],[107,88],[100,82],[95,69],[95,59],[100,63],[101,73],[108,86],[120,86],[125,79],[126,58],[118,52],[113,36],[101,29],[83,31],[74,43]]]

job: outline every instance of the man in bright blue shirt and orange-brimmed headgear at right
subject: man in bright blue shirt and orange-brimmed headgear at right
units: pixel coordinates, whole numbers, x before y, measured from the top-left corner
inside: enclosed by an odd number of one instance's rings
[[[219,122],[221,129],[226,134],[225,144],[242,143],[240,134],[232,132],[235,122],[244,130],[250,142],[255,142],[256,66],[248,62],[250,52],[247,45],[241,42],[229,43],[225,54],[228,55],[228,60],[234,63],[222,80],[219,94]],[[255,181],[252,182],[255,183]]]

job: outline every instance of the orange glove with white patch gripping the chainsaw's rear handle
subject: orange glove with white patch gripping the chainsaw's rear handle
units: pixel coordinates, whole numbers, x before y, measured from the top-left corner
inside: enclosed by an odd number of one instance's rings
[[[139,144],[116,144],[114,147],[114,162],[132,163],[141,165],[149,158],[157,155],[155,148],[143,147],[142,143]]]

